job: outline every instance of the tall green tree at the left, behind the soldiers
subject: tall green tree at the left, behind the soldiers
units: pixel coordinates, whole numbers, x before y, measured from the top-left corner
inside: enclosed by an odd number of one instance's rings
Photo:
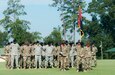
[[[21,5],[20,1],[21,0],[8,1],[8,7],[3,12],[5,17],[0,21],[0,24],[8,33],[7,37],[12,37],[18,43],[40,39],[39,32],[35,32],[35,34],[28,32],[30,22],[20,19],[21,16],[27,15],[24,11],[24,5]]]

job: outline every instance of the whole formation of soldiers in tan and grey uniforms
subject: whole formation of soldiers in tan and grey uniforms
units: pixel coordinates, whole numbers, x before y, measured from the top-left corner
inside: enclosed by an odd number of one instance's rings
[[[22,43],[15,41],[5,46],[6,68],[9,69],[40,69],[60,68],[69,70],[76,67],[76,71],[92,70],[96,66],[97,47],[81,42],[68,43],[67,41],[53,45],[52,43]]]

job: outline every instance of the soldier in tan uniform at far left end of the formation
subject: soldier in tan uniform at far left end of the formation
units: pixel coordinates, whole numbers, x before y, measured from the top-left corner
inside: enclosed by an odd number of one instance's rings
[[[11,56],[10,56],[10,43],[8,43],[4,49],[6,55],[6,68],[11,67]]]

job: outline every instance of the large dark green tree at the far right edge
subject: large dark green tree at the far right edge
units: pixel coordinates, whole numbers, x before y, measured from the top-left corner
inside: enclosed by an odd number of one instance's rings
[[[103,50],[115,47],[115,1],[114,0],[92,0],[88,6],[88,13],[92,21],[88,21],[84,27],[90,41],[95,41],[99,47],[103,42]]]

